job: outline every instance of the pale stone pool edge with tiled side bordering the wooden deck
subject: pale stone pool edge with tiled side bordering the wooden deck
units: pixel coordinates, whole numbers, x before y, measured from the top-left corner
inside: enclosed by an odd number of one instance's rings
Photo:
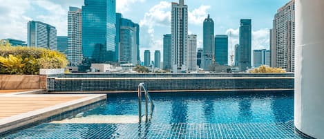
[[[71,115],[84,111],[86,109],[92,109],[100,104],[106,103],[106,95],[92,95],[86,98],[75,100],[72,102],[64,103],[64,105],[50,106],[45,108],[47,111],[37,113],[34,115],[20,116],[19,118],[10,119],[9,122],[0,123],[0,137],[9,133],[14,133],[19,129],[25,129],[26,127],[35,126],[41,122],[50,122],[53,120],[61,120],[68,118]],[[44,109],[40,109],[44,110]],[[23,113],[25,114],[25,113]],[[9,118],[4,118],[9,119]]]

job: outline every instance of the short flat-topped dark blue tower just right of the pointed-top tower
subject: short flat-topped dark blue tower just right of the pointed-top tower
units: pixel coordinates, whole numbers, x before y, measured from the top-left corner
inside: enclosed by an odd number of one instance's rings
[[[229,37],[227,35],[215,36],[215,63],[228,65]]]

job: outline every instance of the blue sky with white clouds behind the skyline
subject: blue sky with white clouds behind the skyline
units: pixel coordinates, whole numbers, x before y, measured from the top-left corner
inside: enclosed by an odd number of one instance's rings
[[[171,32],[171,2],[177,0],[116,0],[117,12],[140,24],[141,57],[145,49],[162,50],[162,37]],[[215,21],[216,34],[232,34],[238,44],[240,19],[252,19],[252,48],[269,48],[269,29],[276,10],[289,0],[184,0],[189,6],[189,33],[198,35],[202,47],[202,21],[208,14]],[[67,35],[68,6],[80,7],[83,0],[0,0],[0,38],[26,40],[27,22],[44,21]],[[231,47],[229,46],[229,53]],[[153,58],[153,55],[151,56]]]

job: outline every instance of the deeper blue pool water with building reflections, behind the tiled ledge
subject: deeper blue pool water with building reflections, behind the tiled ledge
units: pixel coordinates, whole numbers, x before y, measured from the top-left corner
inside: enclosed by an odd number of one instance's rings
[[[293,120],[294,92],[152,93],[153,123],[287,122]],[[143,103],[144,104],[144,103]],[[136,95],[113,95],[87,115],[137,116]],[[117,119],[116,119],[117,120]],[[185,127],[184,127],[185,128]]]

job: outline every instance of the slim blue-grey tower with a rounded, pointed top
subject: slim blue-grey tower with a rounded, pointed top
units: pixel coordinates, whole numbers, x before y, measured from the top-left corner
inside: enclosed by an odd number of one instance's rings
[[[207,19],[204,19],[203,25],[203,49],[202,55],[202,68],[204,71],[209,71],[211,64],[214,62],[215,57],[215,43],[214,43],[214,23],[208,15]]]

